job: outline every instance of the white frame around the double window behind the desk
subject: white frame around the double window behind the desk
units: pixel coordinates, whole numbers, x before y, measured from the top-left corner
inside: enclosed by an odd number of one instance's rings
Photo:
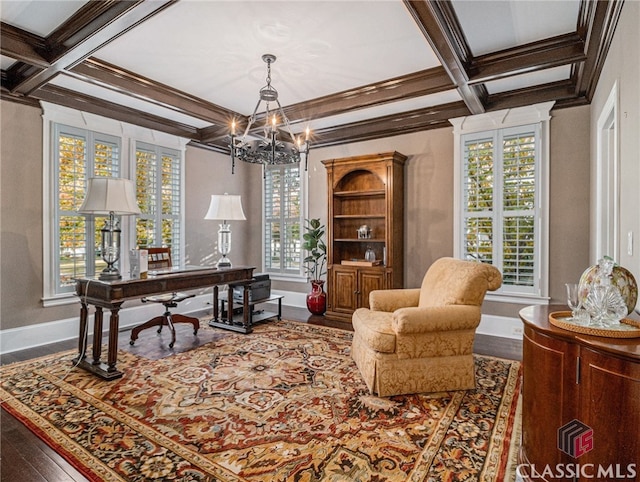
[[[81,112],[68,107],[63,107],[49,102],[41,102],[43,119],[43,287],[42,303],[44,307],[72,304],[77,301],[75,292],[58,293],[56,290],[57,268],[54,263],[58,259],[57,253],[57,230],[58,226],[54,222],[54,213],[57,209],[58,192],[56,186],[57,165],[55,162],[55,125],[64,124],[77,129],[99,132],[121,139],[121,159],[120,175],[129,179],[135,179],[135,141],[146,142],[148,144],[166,146],[175,149],[181,155],[181,178],[184,180],[184,159],[186,145],[189,139],[176,137],[151,129],[142,128],[120,122],[114,119]],[[131,161],[133,159],[133,162]],[[184,183],[184,181],[182,181]],[[184,185],[181,186],[182,222],[184,223]],[[183,224],[184,226],[184,224]],[[121,222],[122,238],[121,252],[127,253],[135,246],[135,216],[124,216]],[[181,230],[184,237],[184,229]],[[184,239],[180,243],[184,250]],[[180,259],[184,259],[184,252],[180,253]],[[121,256],[120,271],[128,271],[128,256]]]

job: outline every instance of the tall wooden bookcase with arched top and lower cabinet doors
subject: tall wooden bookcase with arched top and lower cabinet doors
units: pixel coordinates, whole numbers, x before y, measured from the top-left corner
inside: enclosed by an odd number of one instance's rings
[[[328,318],[351,321],[356,308],[369,306],[369,293],[403,286],[404,163],[386,152],[327,159],[327,311]],[[367,225],[371,237],[360,239]],[[354,266],[370,247],[380,264]]]

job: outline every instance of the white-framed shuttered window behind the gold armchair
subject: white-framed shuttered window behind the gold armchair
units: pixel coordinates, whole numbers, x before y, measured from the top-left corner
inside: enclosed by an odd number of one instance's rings
[[[455,255],[500,269],[499,297],[547,297],[551,105],[546,115],[545,108],[534,106],[532,112],[513,109],[452,121],[457,139]],[[493,126],[499,119],[499,128],[479,130],[483,118]],[[519,124],[532,118],[538,122]]]

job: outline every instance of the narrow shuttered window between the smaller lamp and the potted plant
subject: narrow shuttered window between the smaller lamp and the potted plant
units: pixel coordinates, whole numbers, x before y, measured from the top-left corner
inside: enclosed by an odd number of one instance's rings
[[[303,177],[298,164],[265,168],[263,205],[265,272],[303,277]]]

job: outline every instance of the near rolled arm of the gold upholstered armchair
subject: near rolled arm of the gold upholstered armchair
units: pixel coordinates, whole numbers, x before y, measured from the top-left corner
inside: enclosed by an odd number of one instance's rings
[[[393,313],[391,326],[403,334],[470,330],[480,324],[480,315],[480,307],[472,305],[401,308]]]

